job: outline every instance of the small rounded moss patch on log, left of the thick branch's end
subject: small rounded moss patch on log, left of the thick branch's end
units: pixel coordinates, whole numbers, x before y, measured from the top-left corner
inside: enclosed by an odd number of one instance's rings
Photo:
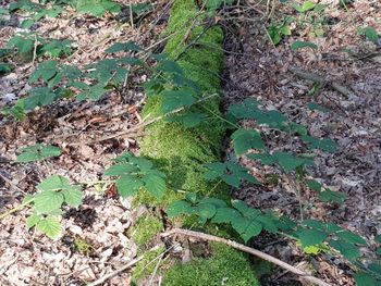
[[[131,238],[138,245],[144,246],[163,229],[162,222],[153,215],[143,215],[132,227]]]

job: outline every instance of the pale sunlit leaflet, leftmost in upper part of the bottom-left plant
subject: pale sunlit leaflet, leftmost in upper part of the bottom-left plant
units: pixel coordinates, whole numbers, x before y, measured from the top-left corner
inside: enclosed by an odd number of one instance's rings
[[[35,196],[35,209],[38,213],[50,213],[60,209],[64,202],[64,197],[56,190],[44,190]]]

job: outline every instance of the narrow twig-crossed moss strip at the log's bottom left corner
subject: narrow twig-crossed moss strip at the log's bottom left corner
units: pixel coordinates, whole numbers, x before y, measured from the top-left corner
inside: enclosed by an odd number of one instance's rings
[[[144,258],[135,265],[134,273],[132,275],[133,285],[153,273],[158,259],[164,251],[164,247],[159,247],[156,250],[145,252]]]

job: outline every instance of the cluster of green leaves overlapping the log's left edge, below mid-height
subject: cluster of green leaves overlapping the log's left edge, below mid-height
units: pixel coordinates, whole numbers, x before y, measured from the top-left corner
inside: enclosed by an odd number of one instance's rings
[[[119,177],[115,182],[119,195],[134,196],[142,188],[159,199],[164,195],[165,175],[156,170],[151,161],[128,152],[118,157],[115,161],[116,164],[110,166],[105,176]]]

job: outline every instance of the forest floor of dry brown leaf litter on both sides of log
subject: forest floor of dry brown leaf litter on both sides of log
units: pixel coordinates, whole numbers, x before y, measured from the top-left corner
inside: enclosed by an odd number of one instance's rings
[[[311,135],[334,139],[339,150],[318,151],[316,165],[308,169],[308,175],[346,194],[347,199],[342,206],[319,202],[306,188],[302,190],[303,213],[332,221],[371,240],[381,234],[381,45],[366,41],[357,29],[366,24],[381,30],[381,3],[356,1],[346,12],[333,1],[322,2],[330,4],[324,10],[328,24],[320,23],[318,16],[310,20],[314,25],[306,25],[306,18],[300,18],[292,25],[292,36],[276,47],[265,28],[266,5],[241,1],[241,5],[220,11],[216,21],[226,35],[222,108],[226,110],[232,103],[255,98],[266,109],[276,109],[304,124]],[[292,12],[284,9],[272,17],[282,13]],[[57,18],[40,21],[35,29],[45,37],[75,41],[74,54],[63,61],[84,66],[105,58],[103,51],[114,42],[133,40],[143,47],[158,42],[168,18],[168,5],[159,1],[155,11],[134,27],[128,20],[121,18],[111,14],[96,18],[69,11]],[[0,46],[4,47],[20,30],[21,21],[22,16],[16,16],[0,27]],[[320,36],[312,35],[318,32]],[[311,41],[319,48],[293,51],[290,45],[295,40]],[[0,108],[26,95],[30,89],[27,78],[36,64],[37,61],[17,64],[12,73],[0,78]],[[343,95],[328,84],[315,94],[309,92],[314,82],[295,75],[291,72],[293,67],[340,83],[352,92]],[[138,153],[137,140],[143,130],[131,136],[118,134],[143,121],[139,111],[145,99],[142,84],[146,79],[145,73],[133,74],[120,92],[110,91],[89,103],[62,100],[30,112],[23,122],[0,115],[0,213],[19,206],[25,194],[35,192],[35,186],[49,174],[67,176],[74,183],[97,182],[118,154],[127,150]],[[269,132],[267,140],[280,150],[300,150],[300,146],[282,134]],[[57,145],[62,156],[46,163],[14,163],[23,147],[36,142]],[[230,156],[231,147],[226,144],[225,157]],[[299,200],[287,176],[276,167],[254,165],[245,159],[242,163],[267,183],[233,189],[234,198],[258,209],[275,209],[300,219]],[[88,185],[84,191],[84,204],[66,212],[64,235],[58,241],[51,243],[26,229],[26,209],[0,221],[1,285],[82,285],[136,256],[128,226],[134,213],[142,210],[132,210],[128,200],[118,198],[113,185]],[[306,260],[305,254],[286,240],[262,235],[251,245],[304,268],[300,262]],[[312,256],[309,260],[324,281],[353,285],[343,260],[328,254]],[[110,279],[109,285],[128,285],[128,273],[123,273]],[[297,277],[275,271],[263,275],[262,283],[296,285]]]

